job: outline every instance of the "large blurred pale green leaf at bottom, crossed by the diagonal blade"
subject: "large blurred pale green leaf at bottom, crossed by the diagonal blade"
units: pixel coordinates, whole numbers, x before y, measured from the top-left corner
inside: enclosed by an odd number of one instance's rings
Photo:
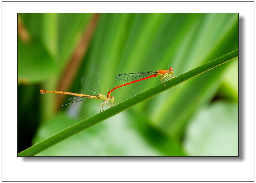
[[[122,119],[120,122],[120,119]],[[71,126],[75,119],[60,113],[49,120],[38,131],[34,142],[40,142],[46,137],[61,131],[62,128]],[[71,136],[36,156],[161,156],[154,148],[147,145],[136,133],[136,129],[128,125],[124,114],[118,114],[99,123],[81,133]],[[129,136],[129,139],[126,138]],[[72,147],[72,148],[70,148]],[[74,150],[76,149],[76,150]]]

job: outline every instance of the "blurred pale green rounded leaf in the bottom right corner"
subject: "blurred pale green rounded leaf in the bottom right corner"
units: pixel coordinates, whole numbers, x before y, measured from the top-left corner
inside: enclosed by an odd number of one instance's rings
[[[201,109],[189,122],[184,147],[190,156],[238,156],[238,104]]]

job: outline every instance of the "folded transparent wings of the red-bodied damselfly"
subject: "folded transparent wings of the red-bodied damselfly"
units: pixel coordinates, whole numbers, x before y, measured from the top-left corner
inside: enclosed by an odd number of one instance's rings
[[[116,76],[116,81],[135,81],[156,74],[157,71],[122,73]]]

